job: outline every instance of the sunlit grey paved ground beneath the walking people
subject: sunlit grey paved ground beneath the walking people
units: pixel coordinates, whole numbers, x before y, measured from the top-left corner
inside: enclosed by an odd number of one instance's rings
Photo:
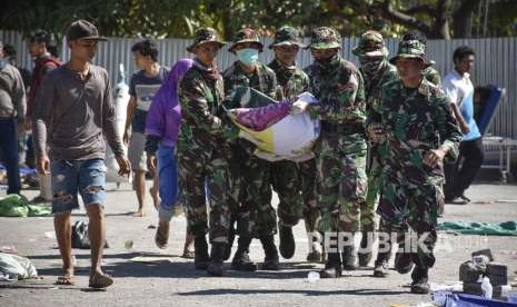
[[[115,186],[110,186],[113,188]],[[372,268],[347,273],[336,280],[307,281],[307,274],[322,265],[305,263],[308,250],[305,228],[295,228],[297,254],[282,263],[280,271],[252,274],[226,271],[222,278],[210,278],[196,271],[191,261],[179,258],[185,238],[185,218],[175,218],[171,245],[160,250],[153,245],[156,211],[148,206],[148,216],[135,218],[136,197],[130,190],[108,194],[108,242],[105,269],[116,277],[107,291],[89,291],[88,250],[74,250],[78,259],[77,286],[52,285],[60,274],[60,258],[52,234],[52,218],[0,218],[0,246],[12,245],[29,257],[42,279],[0,283],[0,306],[389,306],[429,301],[427,295],[411,295],[410,277],[395,271],[389,279],[370,277]],[[28,191],[29,197],[36,195]],[[517,186],[475,185],[468,191],[475,204],[447,206],[443,220],[507,221],[517,220]],[[86,219],[78,212],[74,219]],[[132,240],[127,249],[125,242]],[[515,237],[454,236],[441,234],[437,264],[430,273],[434,283],[457,280],[458,266],[474,250],[491,248],[496,260],[509,266],[510,280],[517,269]],[[278,238],[277,238],[278,242]],[[155,264],[133,263],[136,256],[166,257]],[[258,241],[251,247],[252,259],[264,258]],[[229,269],[229,265],[226,267]]]

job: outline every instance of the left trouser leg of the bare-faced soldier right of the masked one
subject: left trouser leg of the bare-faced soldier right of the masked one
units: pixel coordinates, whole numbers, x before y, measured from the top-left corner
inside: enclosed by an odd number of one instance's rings
[[[278,195],[278,224],[292,227],[304,217],[298,166],[294,161],[271,162],[271,186]]]

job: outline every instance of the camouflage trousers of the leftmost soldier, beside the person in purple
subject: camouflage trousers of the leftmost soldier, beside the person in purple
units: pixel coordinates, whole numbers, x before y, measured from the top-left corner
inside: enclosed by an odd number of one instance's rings
[[[178,172],[187,205],[187,232],[202,236],[209,231],[211,242],[228,242],[232,208],[225,155],[213,148],[178,150]]]

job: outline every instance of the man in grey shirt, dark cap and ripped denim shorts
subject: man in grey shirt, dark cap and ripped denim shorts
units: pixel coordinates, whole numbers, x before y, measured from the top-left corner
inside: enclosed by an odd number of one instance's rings
[[[78,192],[89,217],[89,287],[106,288],[113,283],[101,269],[106,238],[105,137],[117,157],[119,174],[129,175],[130,165],[117,132],[108,72],[89,63],[100,40],[106,39],[86,20],[70,26],[67,32],[70,61],[44,76],[33,116],[38,172],[46,175],[51,170],[52,212],[63,261],[58,285],[73,285],[70,216],[79,207]]]

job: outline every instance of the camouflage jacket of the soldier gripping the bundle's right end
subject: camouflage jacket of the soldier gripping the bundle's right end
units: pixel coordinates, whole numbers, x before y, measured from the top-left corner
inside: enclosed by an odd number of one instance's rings
[[[325,67],[314,62],[306,68],[309,91],[319,103],[309,109],[322,123],[364,123],[366,120],[365,85],[357,68],[339,56]]]

